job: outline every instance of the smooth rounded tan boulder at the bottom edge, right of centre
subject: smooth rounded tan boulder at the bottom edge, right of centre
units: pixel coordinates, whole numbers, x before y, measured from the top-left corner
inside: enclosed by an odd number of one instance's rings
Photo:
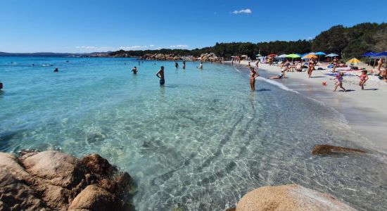
[[[236,205],[236,211],[251,210],[355,210],[326,193],[303,186],[265,186],[248,192]]]

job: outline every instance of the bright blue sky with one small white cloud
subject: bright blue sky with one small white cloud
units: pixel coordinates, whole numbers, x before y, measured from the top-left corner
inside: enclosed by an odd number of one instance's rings
[[[316,2],[319,2],[318,4]],[[196,49],[387,22],[387,0],[0,0],[0,51]]]

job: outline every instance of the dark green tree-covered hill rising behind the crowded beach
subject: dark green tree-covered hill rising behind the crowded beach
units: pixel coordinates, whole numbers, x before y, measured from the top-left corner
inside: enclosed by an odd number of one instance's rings
[[[310,40],[298,41],[265,41],[253,44],[250,42],[216,43],[215,46],[203,49],[160,49],[146,51],[115,51],[109,53],[114,57],[144,56],[147,53],[175,54],[179,56],[200,56],[201,53],[215,53],[223,58],[247,55],[250,58],[260,53],[277,55],[288,53],[310,53],[324,51],[338,53],[342,58],[353,58],[363,53],[387,51],[387,23],[361,23],[353,27],[336,25]]]

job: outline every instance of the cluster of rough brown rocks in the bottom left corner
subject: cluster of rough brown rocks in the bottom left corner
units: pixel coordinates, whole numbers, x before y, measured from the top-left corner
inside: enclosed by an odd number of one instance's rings
[[[132,179],[100,155],[0,153],[0,210],[134,210]]]

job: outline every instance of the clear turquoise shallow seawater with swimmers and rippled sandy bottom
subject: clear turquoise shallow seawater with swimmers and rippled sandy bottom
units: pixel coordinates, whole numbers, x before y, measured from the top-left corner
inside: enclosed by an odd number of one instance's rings
[[[99,153],[137,181],[137,210],[224,210],[253,188],[291,183],[386,210],[386,156],[335,110],[265,80],[251,93],[246,72],[225,65],[153,63],[0,57],[0,150]],[[324,143],[369,153],[310,155]]]

